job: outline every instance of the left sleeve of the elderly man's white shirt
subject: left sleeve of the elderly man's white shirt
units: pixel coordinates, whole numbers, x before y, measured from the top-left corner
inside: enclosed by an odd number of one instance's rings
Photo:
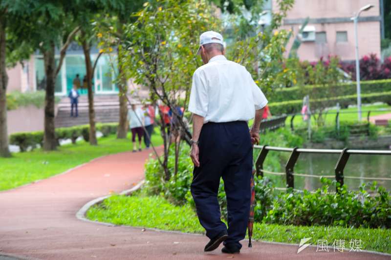
[[[193,74],[192,90],[190,92],[189,111],[201,117],[208,112],[208,89],[203,75],[199,71]]]

